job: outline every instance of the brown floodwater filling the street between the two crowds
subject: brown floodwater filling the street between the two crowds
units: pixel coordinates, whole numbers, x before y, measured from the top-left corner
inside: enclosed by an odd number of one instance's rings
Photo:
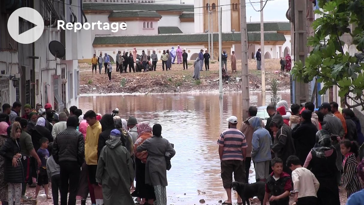
[[[289,93],[280,95],[289,102]],[[83,96],[79,107],[83,112],[92,109],[101,114],[119,108],[122,118],[135,116],[138,122],[161,124],[162,136],[176,151],[167,171],[168,204],[182,205],[197,204],[201,198],[215,203],[226,198],[216,142],[227,129],[226,118],[235,115],[241,123],[242,94],[225,93],[222,101],[218,93]],[[261,101],[260,92],[250,92],[250,105],[261,106]],[[270,102],[269,93],[266,102]],[[249,182],[255,182],[253,165]]]

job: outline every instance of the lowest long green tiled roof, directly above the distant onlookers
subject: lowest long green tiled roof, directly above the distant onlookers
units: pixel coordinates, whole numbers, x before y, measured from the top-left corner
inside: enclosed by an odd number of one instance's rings
[[[249,32],[249,41],[260,41],[260,32]],[[175,34],[175,35],[130,35],[130,36],[96,36],[93,45],[107,44],[145,44],[145,43],[200,43],[208,42],[207,34]],[[222,41],[240,42],[240,32],[223,33]],[[265,41],[286,41],[283,34],[265,32]],[[214,34],[214,42],[218,42],[218,34]]]

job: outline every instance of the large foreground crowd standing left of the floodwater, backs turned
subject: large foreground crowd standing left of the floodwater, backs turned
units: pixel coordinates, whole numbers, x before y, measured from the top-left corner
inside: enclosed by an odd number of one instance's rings
[[[2,205],[37,198],[42,187],[55,205],[59,194],[61,205],[75,205],[77,197],[85,205],[88,194],[93,205],[134,205],[132,197],[138,204],[167,204],[166,171],[175,150],[160,124],[122,119],[117,108],[104,115],[76,106],[57,113],[48,103],[2,108]],[[27,185],[36,187],[34,196],[26,196]]]

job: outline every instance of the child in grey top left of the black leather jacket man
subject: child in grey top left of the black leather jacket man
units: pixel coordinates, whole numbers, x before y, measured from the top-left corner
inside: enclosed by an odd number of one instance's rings
[[[60,167],[54,161],[52,156],[53,142],[48,144],[48,152],[50,153],[50,157],[47,159],[47,175],[48,179],[51,179],[52,186],[52,196],[53,196],[53,204],[58,205],[58,192],[60,188]]]

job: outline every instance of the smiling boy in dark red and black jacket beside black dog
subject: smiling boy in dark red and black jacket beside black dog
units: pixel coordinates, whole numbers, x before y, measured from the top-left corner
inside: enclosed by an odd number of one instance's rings
[[[289,193],[292,190],[292,181],[289,174],[283,171],[283,162],[280,158],[272,159],[272,174],[265,184],[263,204],[288,205]]]

